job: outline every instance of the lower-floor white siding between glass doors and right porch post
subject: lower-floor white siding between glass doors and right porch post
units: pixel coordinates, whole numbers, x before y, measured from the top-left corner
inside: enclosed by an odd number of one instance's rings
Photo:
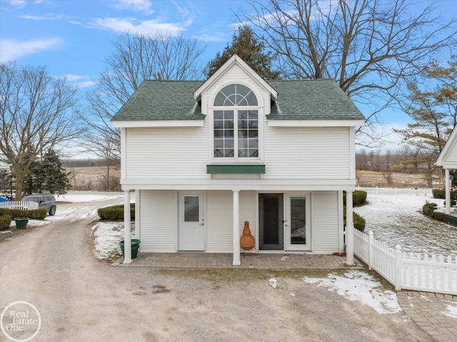
[[[312,251],[338,252],[338,191],[315,191],[312,197]]]

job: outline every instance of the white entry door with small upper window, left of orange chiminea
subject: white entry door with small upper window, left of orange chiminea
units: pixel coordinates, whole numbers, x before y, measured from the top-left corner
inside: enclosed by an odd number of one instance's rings
[[[179,251],[205,250],[204,193],[179,193]]]

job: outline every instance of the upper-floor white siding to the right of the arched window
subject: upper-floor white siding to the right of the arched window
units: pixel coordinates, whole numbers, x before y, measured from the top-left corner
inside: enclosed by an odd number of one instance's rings
[[[348,127],[264,127],[263,179],[349,179]]]

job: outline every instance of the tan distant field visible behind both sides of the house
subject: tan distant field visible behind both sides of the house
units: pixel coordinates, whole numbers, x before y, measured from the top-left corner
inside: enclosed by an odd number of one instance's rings
[[[110,168],[109,184],[106,182],[106,166],[74,167],[66,168],[66,170],[71,172],[71,184],[74,190],[103,191],[121,189],[119,186],[121,170],[119,168]],[[391,183],[387,182],[386,176],[383,175],[383,173],[375,171],[357,171],[356,178],[358,186],[378,186],[380,188],[428,188],[423,175],[418,174],[391,173]],[[434,181],[433,187],[444,187],[443,180]]]

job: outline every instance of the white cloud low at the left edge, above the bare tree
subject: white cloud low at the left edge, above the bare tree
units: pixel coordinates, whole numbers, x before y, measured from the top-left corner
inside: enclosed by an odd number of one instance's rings
[[[24,56],[36,54],[48,49],[56,49],[60,46],[62,40],[59,37],[50,39],[39,39],[34,41],[16,41],[13,39],[1,40],[0,62],[13,61]]]

